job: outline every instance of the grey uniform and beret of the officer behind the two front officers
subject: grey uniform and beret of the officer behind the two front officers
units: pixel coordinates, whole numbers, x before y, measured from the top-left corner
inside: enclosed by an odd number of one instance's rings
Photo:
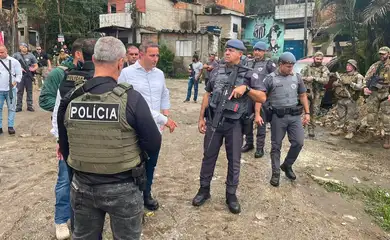
[[[266,51],[267,46],[263,42],[258,42],[255,44],[254,49],[259,49],[261,51]],[[247,62],[247,66],[253,69],[253,77],[258,78],[260,81],[263,81],[264,78],[275,71],[276,65],[270,59],[253,59]],[[265,106],[261,108],[261,118],[264,121],[264,124],[261,126],[257,126],[257,134],[256,134],[256,153],[255,157],[259,158],[264,155],[264,145],[265,145],[265,137],[266,137],[266,114],[267,111]],[[248,102],[248,116],[252,116],[255,113],[255,102],[249,99]],[[242,148],[242,152],[248,152],[253,149],[253,122],[251,121],[248,126],[245,127],[247,129],[245,135],[245,145]]]

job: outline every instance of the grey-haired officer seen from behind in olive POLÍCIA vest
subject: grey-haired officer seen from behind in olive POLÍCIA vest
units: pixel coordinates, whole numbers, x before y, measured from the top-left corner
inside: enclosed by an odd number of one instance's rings
[[[126,49],[114,37],[95,46],[94,78],[72,90],[58,112],[60,150],[74,170],[72,239],[98,239],[105,214],[115,238],[140,239],[144,151],[157,151],[161,135],[140,93],[117,84]]]

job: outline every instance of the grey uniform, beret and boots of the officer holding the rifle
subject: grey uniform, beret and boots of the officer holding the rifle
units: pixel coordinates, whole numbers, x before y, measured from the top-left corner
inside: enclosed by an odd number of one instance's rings
[[[245,46],[239,40],[229,40],[227,48],[234,48],[244,51]],[[202,205],[210,198],[210,184],[214,175],[214,169],[220,148],[225,139],[226,155],[228,159],[228,173],[226,178],[226,203],[232,213],[241,211],[240,205],[236,197],[236,190],[240,176],[241,166],[241,146],[242,146],[242,121],[246,117],[248,109],[247,95],[240,98],[232,98],[226,103],[226,108],[223,110],[222,124],[218,124],[217,128],[213,129],[212,122],[216,117],[216,112],[220,104],[222,104],[222,96],[227,96],[226,86],[241,86],[246,85],[252,88],[259,89],[261,83],[258,79],[251,78],[252,74],[249,68],[239,64],[239,66],[229,66],[219,64],[213,71],[210,81],[207,83],[206,91],[210,94],[208,101],[208,116],[206,118],[206,134],[204,137],[204,157],[200,170],[200,189],[193,199],[194,206]],[[234,74],[234,75],[231,75]],[[233,77],[232,77],[233,76]],[[248,87],[247,87],[248,89]],[[227,96],[229,97],[229,96]]]

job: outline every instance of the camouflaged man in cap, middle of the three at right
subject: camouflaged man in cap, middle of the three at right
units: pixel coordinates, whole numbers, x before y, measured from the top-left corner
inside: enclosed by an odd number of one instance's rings
[[[357,128],[359,117],[357,100],[363,90],[364,77],[357,71],[357,62],[353,59],[347,61],[346,73],[333,83],[336,105],[336,130],[333,136],[344,134],[345,139],[352,139]],[[336,74],[337,75],[337,74]]]

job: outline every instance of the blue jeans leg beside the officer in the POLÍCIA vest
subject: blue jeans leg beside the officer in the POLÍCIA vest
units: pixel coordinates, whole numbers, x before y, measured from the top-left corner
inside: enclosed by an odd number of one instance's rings
[[[70,219],[70,181],[68,165],[64,160],[58,160],[58,178],[55,188],[56,205],[54,222],[56,224],[66,223]]]

